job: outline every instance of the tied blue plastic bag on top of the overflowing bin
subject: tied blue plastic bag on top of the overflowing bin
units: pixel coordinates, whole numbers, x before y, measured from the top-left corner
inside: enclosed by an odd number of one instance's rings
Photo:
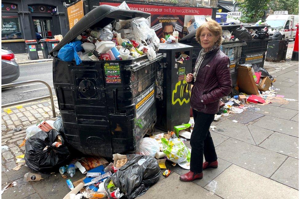
[[[82,61],[77,55],[77,52],[83,50],[81,44],[81,41],[74,41],[70,42],[69,44],[65,44],[65,46],[59,50],[57,55],[58,58],[65,62],[70,62],[75,58],[76,64],[79,65]]]

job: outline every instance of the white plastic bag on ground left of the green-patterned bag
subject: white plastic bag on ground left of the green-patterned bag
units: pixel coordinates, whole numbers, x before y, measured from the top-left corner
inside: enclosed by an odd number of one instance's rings
[[[138,154],[155,156],[156,152],[160,151],[158,142],[150,137],[145,137],[141,140]]]

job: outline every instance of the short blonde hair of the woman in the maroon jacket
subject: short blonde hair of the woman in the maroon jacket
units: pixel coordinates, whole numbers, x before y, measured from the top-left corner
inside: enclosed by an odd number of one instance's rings
[[[205,22],[204,24],[200,25],[200,27],[197,29],[196,31],[196,41],[198,41],[199,44],[201,44],[201,41],[200,41],[200,35],[201,35],[201,32],[207,28],[211,33],[213,33],[215,36],[219,36],[216,44],[218,46],[221,45],[222,41],[223,41],[223,38],[222,38],[222,27],[221,25],[216,22],[215,20],[210,20],[210,21],[207,21]]]

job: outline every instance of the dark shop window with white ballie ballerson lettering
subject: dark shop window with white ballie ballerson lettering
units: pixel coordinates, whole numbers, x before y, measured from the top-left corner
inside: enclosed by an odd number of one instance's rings
[[[2,40],[23,39],[18,16],[2,16]]]

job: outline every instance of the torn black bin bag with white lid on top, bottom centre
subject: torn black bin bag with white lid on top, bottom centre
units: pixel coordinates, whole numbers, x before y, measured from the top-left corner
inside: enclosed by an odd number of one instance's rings
[[[110,180],[128,199],[143,195],[156,183],[160,176],[160,167],[156,159],[149,155],[127,155],[127,163],[107,178],[104,187],[107,193],[107,185]],[[109,195],[110,199],[113,199]]]

